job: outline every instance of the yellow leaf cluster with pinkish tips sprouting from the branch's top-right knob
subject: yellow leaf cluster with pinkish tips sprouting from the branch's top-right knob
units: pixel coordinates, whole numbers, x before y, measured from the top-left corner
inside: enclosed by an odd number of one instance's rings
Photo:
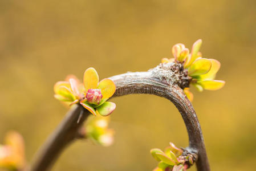
[[[184,70],[190,76],[190,84],[192,84],[198,91],[203,89],[217,90],[224,86],[225,82],[222,80],[214,80],[218,70],[220,70],[221,63],[216,59],[202,58],[199,51],[202,40],[197,40],[189,53],[189,49],[184,44],[178,43],[172,47],[172,54],[174,58],[163,58],[162,63],[181,63]],[[184,88],[184,92],[190,101],[193,100],[193,94],[189,88]]]

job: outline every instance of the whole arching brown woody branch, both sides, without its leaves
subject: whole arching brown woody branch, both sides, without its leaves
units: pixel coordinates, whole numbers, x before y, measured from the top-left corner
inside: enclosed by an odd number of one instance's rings
[[[192,104],[178,86],[181,84],[179,78],[180,75],[177,72],[170,70],[167,72],[157,66],[147,72],[128,72],[112,76],[109,79],[112,79],[116,84],[116,92],[113,97],[133,93],[148,93],[165,97],[172,101],[181,113],[188,131],[189,146],[186,150],[198,155],[196,161],[198,171],[209,171],[210,167],[201,127]],[[83,116],[78,124],[77,120],[80,112],[83,113]],[[67,117],[43,145],[30,170],[41,171],[49,169],[51,164],[58,158],[60,152],[76,137],[79,137],[79,128],[88,115],[88,112],[80,105],[72,108]]]

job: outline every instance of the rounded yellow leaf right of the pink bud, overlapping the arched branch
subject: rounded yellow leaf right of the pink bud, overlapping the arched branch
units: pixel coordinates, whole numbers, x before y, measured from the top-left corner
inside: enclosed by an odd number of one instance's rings
[[[116,85],[111,79],[101,80],[97,88],[101,89],[103,99],[111,97],[116,91]]]

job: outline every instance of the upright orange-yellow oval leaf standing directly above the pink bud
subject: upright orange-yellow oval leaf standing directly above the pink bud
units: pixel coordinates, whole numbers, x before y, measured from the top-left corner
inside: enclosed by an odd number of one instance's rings
[[[84,89],[87,92],[88,89],[95,89],[99,83],[99,75],[94,68],[88,68],[84,72]]]

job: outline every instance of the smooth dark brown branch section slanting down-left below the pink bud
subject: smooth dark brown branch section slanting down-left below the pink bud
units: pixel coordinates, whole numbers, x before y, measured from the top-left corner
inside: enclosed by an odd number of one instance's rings
[[[73,105],[46,143],[39,149],[28,170],[45,171],[50,169],[64,148],[81,136],[78,130],[89,115],[90,112],[82,105]]]

